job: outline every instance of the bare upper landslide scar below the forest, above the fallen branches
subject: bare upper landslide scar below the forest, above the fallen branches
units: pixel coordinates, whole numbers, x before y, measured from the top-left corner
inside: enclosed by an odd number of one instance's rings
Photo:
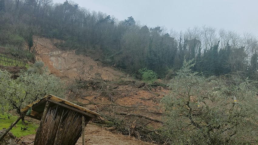
[[[114,80],[123,73],[110,67],[104,67],[89,56],[76,54],[75,50],[60,50],[55,44],[62,43],[59,39],[47,39],[34,37],[34,45],[37,49],[36,60],[43,61],[49,67],[51,73],[59,77],[73,79],[75,76],[89,77],[101,74],[103,79]],[[90,52],[89,52],[90,53]],[[90,55],[90,54],[89,54]]]

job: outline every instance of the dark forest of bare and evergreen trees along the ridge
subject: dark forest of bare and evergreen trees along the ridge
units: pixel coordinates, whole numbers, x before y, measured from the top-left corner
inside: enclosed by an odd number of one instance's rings
[[[104,12],[90,11],[75,2],[52,0],[0,0],[0,43],[33,51],[32,35],[66,40],[62,48],[101,52],[103,62],[139,76],[148,68],[164,78],[194,59],[193,70],[205,76],[241,72],[257,79],[257,38],[251,33],[209,26],[168,32],[157,26],[136,24],[132,16],[122,21]],[[34,48],[35,49],[35,48]]]

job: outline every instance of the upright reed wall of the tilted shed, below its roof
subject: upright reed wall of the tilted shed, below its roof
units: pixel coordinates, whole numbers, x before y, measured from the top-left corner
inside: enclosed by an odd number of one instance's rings
[[[58,112],[57,112],[58,110]],[[87,123],[89,120],[85,120]],[[82,133],[82,115],[72,110],[49,110],[37,144],[73,145]]]

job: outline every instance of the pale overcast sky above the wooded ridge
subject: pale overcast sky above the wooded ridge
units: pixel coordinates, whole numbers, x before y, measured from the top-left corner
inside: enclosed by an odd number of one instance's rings
[[[53,0],[63,3],[65,0]],[[69,0],[68,0],[69,1]],[[165,26],[183,32],[203,25],[258,36],[257,0],[72,0],[80,7],[114,15],[132,16],[148,27]]]

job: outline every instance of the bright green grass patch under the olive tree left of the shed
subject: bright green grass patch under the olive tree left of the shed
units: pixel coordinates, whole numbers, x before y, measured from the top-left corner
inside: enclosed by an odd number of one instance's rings
[[[0,115],[0,130],[2,128],[8,128],[15,120],[17,120],[18,116],[11,116],[10,119],[8,119],[7,114]],[[36,134],[36,129],[38,128],[38,124],[33,122],[28,122],[25,120],[26,125],[22,124],[22,120],[20,120],[15,127],[10,130],[16,137],[26,136],[29,134]],[[21,130],[21,127],[28,127],[28,130]]]

